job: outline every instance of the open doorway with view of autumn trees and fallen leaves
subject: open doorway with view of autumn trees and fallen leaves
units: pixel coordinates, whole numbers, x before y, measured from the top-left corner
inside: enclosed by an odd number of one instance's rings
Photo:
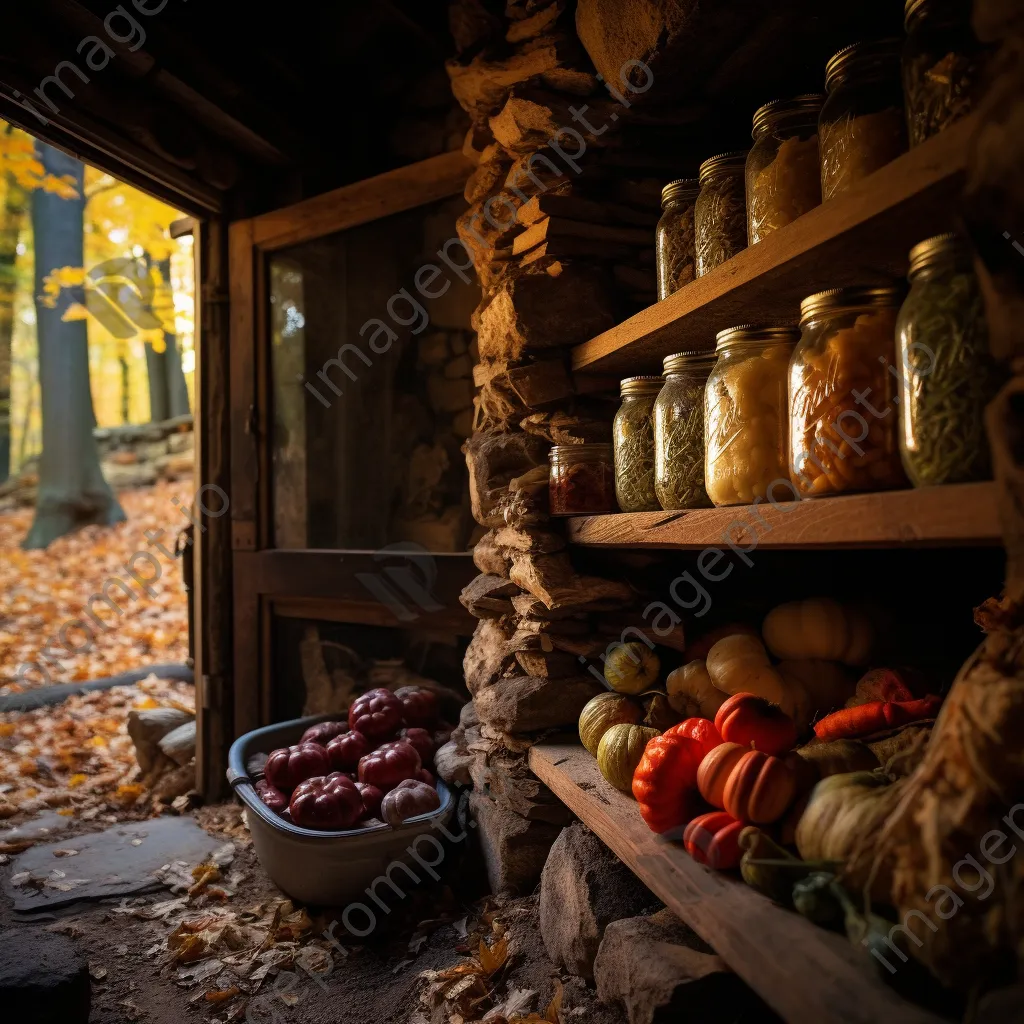
[[[129,712],[195,706],[194,223],[0,121],[0,712],[39,719],[0,745],[14,807],[109,800]]]

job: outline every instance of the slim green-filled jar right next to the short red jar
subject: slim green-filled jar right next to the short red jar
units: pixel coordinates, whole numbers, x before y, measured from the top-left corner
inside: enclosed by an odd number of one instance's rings
[[[611,425],[615,499],[622,512],[656,512],[654,493],[654,401],[662,377],[628,377],[618,385],[622,403]]]

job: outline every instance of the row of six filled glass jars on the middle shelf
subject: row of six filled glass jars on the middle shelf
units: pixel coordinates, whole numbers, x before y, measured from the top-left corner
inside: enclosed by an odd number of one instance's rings
[[[668,356],[664,377],[623,381],[613,451],[603,456],[613,459],[616,502],[609,482],[589,507],[552,511],[706,508],[880,490],[908,478],[915,486],[985,479],[983,413],[999,379],[970,252],[938,236],[910,252],[909,294],[902,285],[821,292],[801,303],[799,328],[732,328],[714,352]],[[784,487],[773,494],[777,481]]]

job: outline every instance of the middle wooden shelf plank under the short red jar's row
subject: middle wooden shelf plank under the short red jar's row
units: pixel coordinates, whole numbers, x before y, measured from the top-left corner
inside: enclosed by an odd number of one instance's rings
[[[568,520],[569,541],[636,548],[939,548],[1002,543],[994,483],[957,483],[772,506]]]

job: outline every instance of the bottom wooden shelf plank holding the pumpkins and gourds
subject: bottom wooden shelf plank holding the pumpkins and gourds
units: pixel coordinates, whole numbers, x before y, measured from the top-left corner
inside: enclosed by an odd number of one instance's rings
[[[649,831],[636,803],[578,744],[542,743],[534,772],[666,905],[785,1020],[804,1024],[938,1024],[870,974],[841,935],[816,928],[738,879],[700,866]]]

